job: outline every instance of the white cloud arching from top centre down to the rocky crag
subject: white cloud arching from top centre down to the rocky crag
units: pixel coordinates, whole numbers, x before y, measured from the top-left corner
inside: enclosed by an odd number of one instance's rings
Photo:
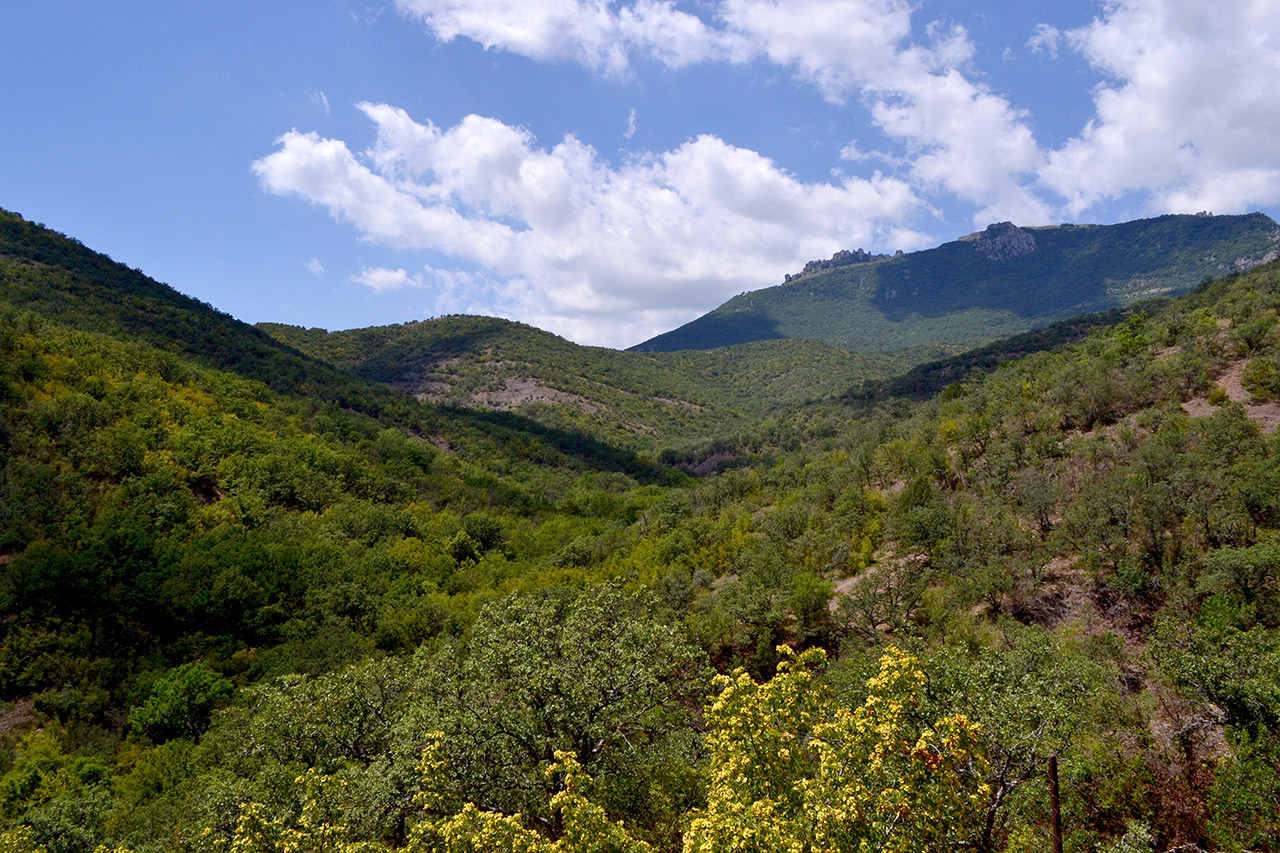
[[[1039,152],[1023,113],[961,70],[974,53],[963,28],[932,24],[929,44],[913,44],[906,0],[719,0],[710,24],[658,0],[398,5],[444,40],[467,37],[611,74],[627,73],[637,54],[668,67],[765,59],[833,104],[861,95],[882,129],[909,149],[915,181],[975,202],[975,224],[1052,218],[1025,188]]]

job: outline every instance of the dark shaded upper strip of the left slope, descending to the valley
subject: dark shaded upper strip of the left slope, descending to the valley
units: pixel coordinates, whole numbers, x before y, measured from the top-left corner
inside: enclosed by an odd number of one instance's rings
[[[312,420],[351,432],[394,426],[484,460],[489,467],[626,471],[645,480],[671,474],[620,447],[613,437],[562,429],[518,412],[462,412],[353,375],[265,332],[116,263],[79,241],[0,209],[0,310],[13,306],[59,327],[143,345],[261,383],[305,402]]]

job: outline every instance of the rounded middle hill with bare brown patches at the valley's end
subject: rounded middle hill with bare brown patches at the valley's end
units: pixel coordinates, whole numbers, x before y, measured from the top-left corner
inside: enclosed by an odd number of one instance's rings
[[[810,341],[707,352],[620,352],[480,316],[346,332],[270,323],[259,328],[289,347],[426,402],[516,411],[636,439],[723,430],[781,405],[887,378],[924,357],[851,355]]]

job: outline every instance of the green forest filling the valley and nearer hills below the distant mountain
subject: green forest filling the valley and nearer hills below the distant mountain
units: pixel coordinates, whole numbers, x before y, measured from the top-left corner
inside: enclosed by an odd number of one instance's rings
[[[1280,264],[600,352],[0,213],[0,850],[1280,850]]]

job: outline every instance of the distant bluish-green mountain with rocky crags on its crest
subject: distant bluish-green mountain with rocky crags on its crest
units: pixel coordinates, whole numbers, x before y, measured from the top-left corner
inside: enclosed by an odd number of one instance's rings
[[[1280,256],[1260,213],[1167,215],[1117,225],[997,223],[937,248],[837,252],[777,287],[742,293],[632,347],[707,350],[806,338],[850,351],[959,351],[1076,314],[1189,291]]]

